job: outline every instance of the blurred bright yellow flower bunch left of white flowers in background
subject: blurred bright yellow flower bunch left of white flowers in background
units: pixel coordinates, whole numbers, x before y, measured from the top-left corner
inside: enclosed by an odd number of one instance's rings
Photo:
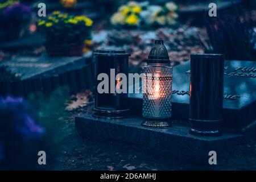
[[[127,5],[119,7],[117,13],[114,13],[110,22],[114,26],[137,27],[141,21],[142,8],[135,1],[130,1]]]

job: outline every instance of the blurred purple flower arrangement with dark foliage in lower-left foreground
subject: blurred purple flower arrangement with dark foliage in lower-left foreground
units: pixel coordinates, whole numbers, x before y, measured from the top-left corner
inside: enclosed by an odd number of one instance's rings
[[[0,96],[0,169],[26,169],[37,160],[31,154],[42,147],[45,130],[28,113],[28,107],[21,97]]]

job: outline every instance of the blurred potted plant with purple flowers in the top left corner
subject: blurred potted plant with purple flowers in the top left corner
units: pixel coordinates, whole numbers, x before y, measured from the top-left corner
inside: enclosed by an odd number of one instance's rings
[[[18,1],[6,1],[0,3],[0,14],[3,29],[6,30],[6,38],[18,39],[26,34],[32,18],[29,6]]]

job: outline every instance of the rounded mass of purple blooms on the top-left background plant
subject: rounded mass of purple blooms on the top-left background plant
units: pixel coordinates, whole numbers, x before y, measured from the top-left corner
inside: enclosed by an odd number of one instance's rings
[[[28,20],[32,16],[32,11],[27,5],[15,3],[3,10],[3,16],[10,20]]]

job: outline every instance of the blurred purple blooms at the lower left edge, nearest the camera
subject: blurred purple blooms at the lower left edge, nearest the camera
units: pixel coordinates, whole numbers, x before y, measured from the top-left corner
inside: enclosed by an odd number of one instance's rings
[[[22,97],[0,96],[0,162],[13,158],[13,151],[43,133],[44,128],[28,114],[28,103]]]

